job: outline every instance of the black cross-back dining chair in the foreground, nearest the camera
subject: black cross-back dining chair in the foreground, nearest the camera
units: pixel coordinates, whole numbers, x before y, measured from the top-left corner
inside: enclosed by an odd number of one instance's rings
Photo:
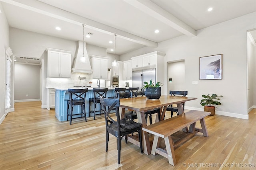
[[[125,137],[125,143],[127,143],[127,135],[138,132],[140,141],[140,152],[143,153],[142,149],[142,124],[136,123],[129,119],[120,119],[119,99],[103,98],[100,97],[100,103],[103,106],[103,111],[106,121],[106,152],[108,152],[108,142],[109,134],[117,138],[117,150],[118,150],[118,164],[120,164],[121,148],[122,148],[122,138]],[[108,111],[106,110],[108,107]],[[113,108],[116,108],[116,115],[110,114]]]

